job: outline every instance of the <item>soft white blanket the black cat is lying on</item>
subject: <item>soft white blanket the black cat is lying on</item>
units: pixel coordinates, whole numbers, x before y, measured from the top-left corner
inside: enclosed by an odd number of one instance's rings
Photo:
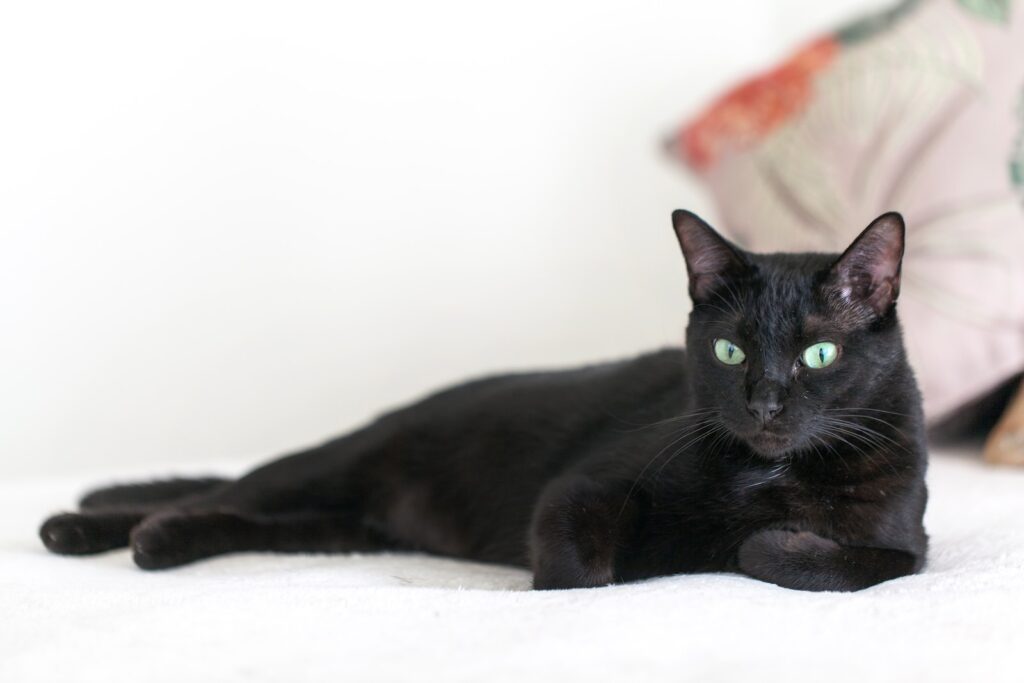
[[[1024,472],[971,454],[933,457],[925,572],[854,594],[732,574],[540,593],[419,555],[144,572],[125,551],[47,554],[39,522],[96,482],[0,484],[0,681],[1024,680]]]

